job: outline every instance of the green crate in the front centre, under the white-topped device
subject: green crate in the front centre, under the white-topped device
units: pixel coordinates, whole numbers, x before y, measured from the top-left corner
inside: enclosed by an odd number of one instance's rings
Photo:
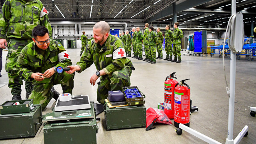
[[[44,125],[44,144],[96,144],[98,126],[94,102],[90,103],[93,118],[68,120],[67,116],[67,120],[48,121]]]

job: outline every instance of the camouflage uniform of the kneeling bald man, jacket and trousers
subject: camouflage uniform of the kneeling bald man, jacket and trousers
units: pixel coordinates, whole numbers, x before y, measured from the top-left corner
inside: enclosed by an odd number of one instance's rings
[[[103,69],[106,72],[106,75],[100,76],[98,83],[97,100],[101,104],[108,97],[108,91],[122,90],[122,87],[130,86],[130,76],[135,68],[126,58],[124,45],[120,39],[110,34],[102,46],[90,40],[80,62],[77,62],[81,68],[77,72],[84,71],[93,63],[97,70]]]

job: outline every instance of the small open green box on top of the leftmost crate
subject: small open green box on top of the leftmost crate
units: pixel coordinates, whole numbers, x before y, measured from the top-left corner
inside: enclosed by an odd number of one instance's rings
[[[20,104],[14,105],[15,102]],[[1,104],[0,114],[20,114],[30,112],[33,107],[33,100],[8,100]]]

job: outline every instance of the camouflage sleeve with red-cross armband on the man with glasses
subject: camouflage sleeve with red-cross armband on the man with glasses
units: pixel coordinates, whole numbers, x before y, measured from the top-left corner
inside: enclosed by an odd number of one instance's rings
[[[68,55],[68,52],[65,50],[65,48],[57,41],[56,41],[56,47],[58,48],[58,59],[59,63],[56,65],[56,67],[61,66],[62,68],[65,68],[67,66],[72,65],[70,56]],[[62,57],[62,55],[67,55],[66,57]]]

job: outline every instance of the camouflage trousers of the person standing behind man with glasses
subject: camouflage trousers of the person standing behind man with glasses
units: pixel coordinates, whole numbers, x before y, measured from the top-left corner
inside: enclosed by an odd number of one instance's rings
[[[12,95],[20,95],[21,93],[21,85],[23,84],[22,79],[18,75],[18,70],[16,69],[16,62],[18,60],[18,56],[27,44],[32,42],[31,40],[26,39],[10,39],[8,40],[8,54],[6,56],[6,64],[5,70],[8,72],[9,83],[8,86],[11,88]],[[32,82],[25,79],[25,89],[26,92],[31,92],[32,90]]]

